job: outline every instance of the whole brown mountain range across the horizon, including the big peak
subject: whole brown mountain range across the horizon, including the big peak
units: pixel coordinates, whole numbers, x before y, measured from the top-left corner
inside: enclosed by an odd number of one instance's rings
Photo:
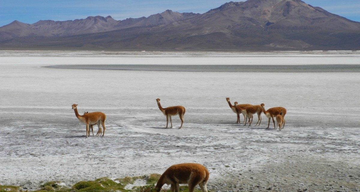
[[[49,21],[41,29],[36,23],[10,23],[0,27],[0,48],[360,50],[359,22],[301,0],[231,1],[203,14],[166,10],[122,21],[96,16],[85,22],[88,18],[64,21],[66,27]],[[75,27],[81,22],[84,27]]]

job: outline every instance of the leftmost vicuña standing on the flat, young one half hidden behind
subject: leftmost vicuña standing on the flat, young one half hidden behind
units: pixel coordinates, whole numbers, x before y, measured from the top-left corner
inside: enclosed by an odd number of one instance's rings
[[[83,124],[86,124],[86,138],[87,135],[90,135],[89,125],[98,124],[99,129],[101,129],[100,123],[103,126],[103,136],[104,136],[106,129],[105,128],[106,115],[104,113],[92,112],[92,113],[85,113],[84,115],[79,115],[79,113],[77,112],[77,104],[73,104],[72,109],[75,111],[75,115],[77,119],[79,119],[79,121],[82,122]]]

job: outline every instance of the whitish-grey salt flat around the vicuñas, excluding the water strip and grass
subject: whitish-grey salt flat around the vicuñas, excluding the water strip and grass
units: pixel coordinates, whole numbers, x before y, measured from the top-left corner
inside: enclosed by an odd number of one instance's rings
[[[359,72],[183,72],[45,68],[78,64],[360,64],[359,52],[101,53],[0,51],[0,184],[38,188],[162,173],[181,162],[210,171],[213,191],[360,188]],[[282,131],[238,125],[233,103],[283,106]],[[157,108],[186,107],[183,129]],[[85,139],[79,112],[107,114]],[[241,117],[242,118],[242,117]],[[241,119],[242,120],[242,119]],[[257,121],[257,117],[254,117]],[[271,125],[271,124],[270,124]]]

